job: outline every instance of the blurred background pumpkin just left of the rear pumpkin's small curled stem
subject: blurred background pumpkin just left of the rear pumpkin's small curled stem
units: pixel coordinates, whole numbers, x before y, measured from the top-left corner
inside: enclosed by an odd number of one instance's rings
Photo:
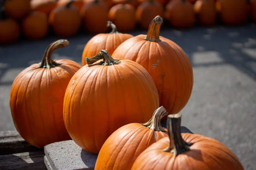
[[[80,11],[84,30],[93,34],[107,31],[108,10],[109,6],[99,0],[86,3]]]

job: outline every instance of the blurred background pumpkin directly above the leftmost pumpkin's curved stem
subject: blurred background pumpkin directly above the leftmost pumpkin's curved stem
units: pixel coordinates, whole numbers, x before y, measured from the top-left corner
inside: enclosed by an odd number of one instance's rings
[[[49,14],[49,25],[59,37],[71,37],[79,31],[81,16],[79,9],[72,6],[73,2],[70,0],[66,6],[57,6]]]

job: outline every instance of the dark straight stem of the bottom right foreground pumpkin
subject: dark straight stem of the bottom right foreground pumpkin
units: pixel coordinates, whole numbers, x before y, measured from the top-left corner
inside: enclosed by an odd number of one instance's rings
[[[167,118],[167,129],[168,135],[170,139],[169,147],[164,149],[166,152],[171,152],[174,156],[178,156],[180,153],[184,153],[188,151],[190,148],[189,146],[192,143],[187,143],[182,139],[181,130],[181,113],[171,114]]]

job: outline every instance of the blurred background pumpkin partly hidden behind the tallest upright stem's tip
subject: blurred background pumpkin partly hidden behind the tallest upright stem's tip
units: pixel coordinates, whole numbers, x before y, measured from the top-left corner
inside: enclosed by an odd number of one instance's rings
[[[154,0],[143,2],[136,10],[136,21],[141,28],[147,30],[155,16],[163,17],[163,10],[163,6]]]

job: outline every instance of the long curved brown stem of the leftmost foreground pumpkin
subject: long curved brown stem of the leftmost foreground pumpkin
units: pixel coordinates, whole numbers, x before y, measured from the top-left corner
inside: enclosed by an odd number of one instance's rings
[[[52,68],[56,65],[61,65],[60,63],[57,63],[51,59],[52,52],[56,50],[57,48],[66,47],[69,44],[68,40],[57,40],[55,42],[52,42],[45,50],[44,57],[41,61],[41,64],[38,66],[38,68]]]

